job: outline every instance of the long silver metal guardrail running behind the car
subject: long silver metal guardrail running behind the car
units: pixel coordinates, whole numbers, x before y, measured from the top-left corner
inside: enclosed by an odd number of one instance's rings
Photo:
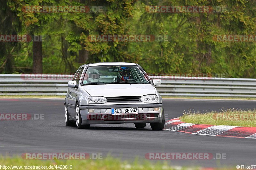
[[[73,75],[0,74],[0,95],[66,95]],[[156,86],[162,96],[256,97],[256,79],[164,77]]]

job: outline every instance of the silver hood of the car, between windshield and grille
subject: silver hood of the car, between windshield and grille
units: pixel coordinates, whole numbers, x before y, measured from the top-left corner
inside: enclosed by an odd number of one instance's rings
[[[156,94],[151,84],[112,84],[112,85],[84,85],[81,86],[91,96],[143,96]]]

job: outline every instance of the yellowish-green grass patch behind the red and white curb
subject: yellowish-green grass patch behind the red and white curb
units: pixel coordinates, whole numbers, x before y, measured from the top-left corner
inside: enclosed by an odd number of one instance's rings
[[[212,111],[209,113],[192,112],[189,110],[183,113],[180,120],[195,124],[256,127],[256,109],[240,110],[229,108],[220,110],[219,112]]]

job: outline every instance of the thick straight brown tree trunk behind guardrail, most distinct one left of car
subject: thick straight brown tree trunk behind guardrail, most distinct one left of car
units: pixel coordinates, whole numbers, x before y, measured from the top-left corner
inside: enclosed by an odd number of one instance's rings
[[[41,36],[39,40],[41,40]],[[42,60],[42,41],[33,41],[33,73],[43,72]]]

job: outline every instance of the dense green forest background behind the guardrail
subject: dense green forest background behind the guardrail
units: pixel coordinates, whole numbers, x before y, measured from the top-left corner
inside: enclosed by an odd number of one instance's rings
[[[24,6],[103,6],[103,12],[29,13]],[[148,12],[148,5],[224,6],[203,13]],[[1,0],[0,34],[44,41],[0,42],[0,73],[74,73],[84,63],[139,63],[148,73],[206,73],[256,78],[256,42],[215,35],[255,35],[254,0]],[[168,41],[90,42],[89,35],[162,35]]]

